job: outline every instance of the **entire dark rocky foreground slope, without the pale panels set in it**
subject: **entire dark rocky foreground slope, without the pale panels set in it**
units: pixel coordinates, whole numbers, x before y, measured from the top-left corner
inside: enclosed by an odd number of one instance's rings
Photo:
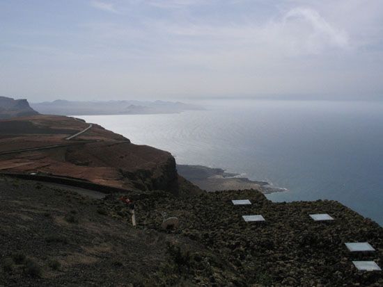
[[[383,229],[332,201],[272,203],[256,190],[119,197],[0,177],[0,286],[382,286]],[[231,199],[250,199],[233,206]],[[310,213],[333,222],[313,222]],[[262,224],[242,215],[262,214]],[[178,229],[164,230],[177,216]],[[368,241],[376,252],[351,254]]]

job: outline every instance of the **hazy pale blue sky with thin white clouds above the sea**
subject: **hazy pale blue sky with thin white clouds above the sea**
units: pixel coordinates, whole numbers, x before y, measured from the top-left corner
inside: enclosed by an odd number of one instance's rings
[[[383,100],[383,1],[0,0],[0,96]]]

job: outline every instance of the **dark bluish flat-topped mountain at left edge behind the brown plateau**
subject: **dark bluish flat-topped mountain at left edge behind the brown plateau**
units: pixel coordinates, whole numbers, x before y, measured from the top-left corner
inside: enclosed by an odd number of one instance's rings
[[[26,99],[0,97],[0,119],[10,119],[12,117],[23,117],[27,115],[38,115],[38,112],[29,106]]]

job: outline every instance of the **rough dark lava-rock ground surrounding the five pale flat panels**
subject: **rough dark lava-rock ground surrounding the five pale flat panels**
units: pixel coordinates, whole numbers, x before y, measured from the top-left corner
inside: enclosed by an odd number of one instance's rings
[[[133,196],[133,195],[132,195]],[[118,214],[111,198],[109,212]],[[232,199],[250,199],[234,206]],[[209,192],[187,199],[166,192],[139,197],[141,228],[161,230],[162,212],[180,219],[173,234],[193,245],[181,245],[179,276],[201,286],[382,286],[382,272],[358,272],[352,260],[382,265],[383,229],[334,201],[272,203],[256,190]],[[333,222],[313,222],[312,213],[329,213]],[[260,214],[265,222],[244,222]],[[377,252],[350,254],[344,243],[368,241]],[[173,283],[171,281],[168,282]]]

